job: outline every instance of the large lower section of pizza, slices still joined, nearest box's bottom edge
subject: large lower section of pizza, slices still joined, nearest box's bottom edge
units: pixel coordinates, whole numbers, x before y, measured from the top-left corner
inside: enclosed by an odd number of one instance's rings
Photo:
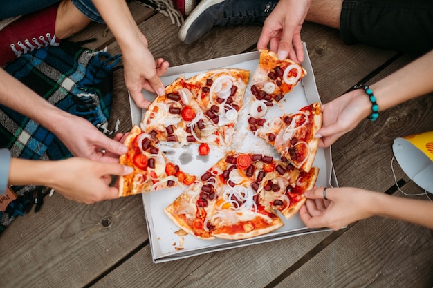
[[[318,169],[306,173],[272,156],[229,152],[166,207],[167,216],[202,239],[240,240],[282,227],[305,202]]]

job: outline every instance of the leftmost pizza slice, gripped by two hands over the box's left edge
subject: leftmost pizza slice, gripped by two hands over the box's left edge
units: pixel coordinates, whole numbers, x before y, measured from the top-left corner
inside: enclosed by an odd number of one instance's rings
[[[189,186],[196,180],[167,161],[156,145],[155,137],[133,126],[124,144],[128,152],[120,155],[120,164],[133,167],[129,175],[119,177],[119,197],[143,192],[158,191],[172,186]]]

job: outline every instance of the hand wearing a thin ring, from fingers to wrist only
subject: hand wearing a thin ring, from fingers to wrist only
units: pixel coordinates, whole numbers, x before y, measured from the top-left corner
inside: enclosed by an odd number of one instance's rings
[[[369,212],[369,201],[375,192],[352,187],[327,188],[328,200],[324,200],[323,189],[305,193],[307,200],[300,209],[300,218],[306,227],[338,230],[373,215]]]

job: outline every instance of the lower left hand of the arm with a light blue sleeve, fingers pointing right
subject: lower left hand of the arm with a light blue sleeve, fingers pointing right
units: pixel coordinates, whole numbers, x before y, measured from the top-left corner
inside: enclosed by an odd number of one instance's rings
[[[53,165],[48,186],[65,198],[92,204],[118,198],[118,187],[109,186],[111,175],[128,175],[133,168],[118,163],[102,163],[73,157],[51,161]]]

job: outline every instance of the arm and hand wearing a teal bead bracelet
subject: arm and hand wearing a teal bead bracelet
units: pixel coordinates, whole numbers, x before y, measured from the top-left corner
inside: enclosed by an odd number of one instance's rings
[[[433,91],[433,50],[369,87],[380,111]],[[325,104],[320,146],[333,144],[344,133],[371,114],[371,102],[362,89],[356,89]],[[380,116],[379,116],[380,117]]]

